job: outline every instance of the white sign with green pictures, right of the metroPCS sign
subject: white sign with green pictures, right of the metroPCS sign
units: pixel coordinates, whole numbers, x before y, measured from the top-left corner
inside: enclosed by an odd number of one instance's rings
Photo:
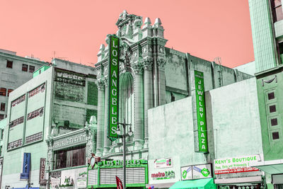
[[[212,164],[183,166],[181,167],[181,178],[182,181],[199,178],[212,178]]]

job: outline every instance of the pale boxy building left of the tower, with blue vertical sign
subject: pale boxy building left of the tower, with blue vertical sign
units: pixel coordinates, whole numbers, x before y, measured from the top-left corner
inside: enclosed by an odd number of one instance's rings
[[[86,121],[97,116],[96,76],[93,67],[76,71],[81,72],[44,66],[10,94],[2,188],[32,183],[34,188],[45,188],[56,175],[54,170],[86,167],[86,142],[94,133]],[[69,137],[69,132],[76,135]]]

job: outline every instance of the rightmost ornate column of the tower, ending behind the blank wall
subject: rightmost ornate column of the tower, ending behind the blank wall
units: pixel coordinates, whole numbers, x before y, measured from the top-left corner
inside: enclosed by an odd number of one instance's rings
[[[165,80],[165,64],[163,58],[157,59],[158,66],[158,100],[159,105],[166,104],[166,80]]]

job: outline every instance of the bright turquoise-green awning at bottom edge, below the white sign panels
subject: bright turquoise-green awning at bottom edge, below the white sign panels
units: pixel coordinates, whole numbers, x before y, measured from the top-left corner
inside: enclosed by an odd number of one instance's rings
[[[192,181],[178,181],[170,189],[216,189],[213,178],[203,178]]]

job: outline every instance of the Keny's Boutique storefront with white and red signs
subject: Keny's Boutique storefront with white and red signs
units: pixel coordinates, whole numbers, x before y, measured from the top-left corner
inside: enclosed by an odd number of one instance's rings
[[[214,183],[218,188],[264,188],[262,171],[251,167],[260,161],[259,155],[240,156],[214,160]]]

